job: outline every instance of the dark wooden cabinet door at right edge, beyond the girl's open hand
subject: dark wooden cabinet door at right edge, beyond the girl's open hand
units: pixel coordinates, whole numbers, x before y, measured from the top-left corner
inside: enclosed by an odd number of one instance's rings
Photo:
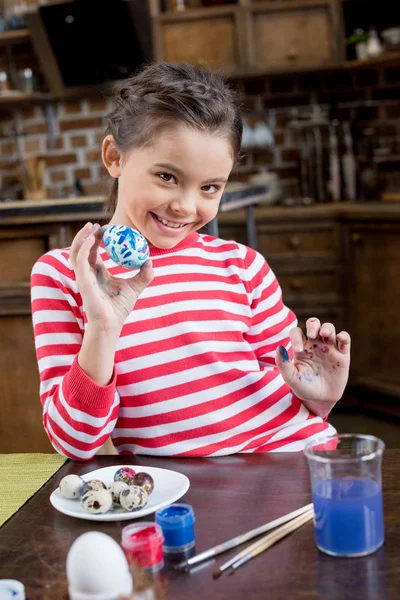
[[[354,222],[347,236],[352,379],[399,396],[400,222]]]

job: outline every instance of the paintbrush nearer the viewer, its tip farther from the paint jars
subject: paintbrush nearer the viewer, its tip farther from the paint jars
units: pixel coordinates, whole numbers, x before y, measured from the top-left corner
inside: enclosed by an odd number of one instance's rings
[[[295,519],[289,521],[289,523],[282,525],[276,531],[268,533],[266,536],[264,536],[254,544],[251,544],[250,546],[247,546],[247,548],[244,548],[244,550],[233,556],[230,560],[228,560],[228,562],[221,565],[216,571],[214,571],[213,577],[219,577],[228,568],[231,569],[229,574],[233,575],[236,569],[246,564],[252,558],[255,558],[262,552],[265,552],[265,550],[276,544],[276,542],[278,542],[282,538],[289,535],[289,533],[292,533],[296,529],[299,529],[299,527],[301,527],[305,523],[308,523],[308,521],[311,521],[313,517],[314,510],[311,508],[302,515],[299,515]]]

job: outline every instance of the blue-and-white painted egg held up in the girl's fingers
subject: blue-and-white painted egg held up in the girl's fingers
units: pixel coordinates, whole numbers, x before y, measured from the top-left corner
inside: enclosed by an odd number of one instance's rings
[[[103,235],[110,258],[124,269],[138,269],[149,258],[150,250],[141,233],[125,225],[111,225]]]

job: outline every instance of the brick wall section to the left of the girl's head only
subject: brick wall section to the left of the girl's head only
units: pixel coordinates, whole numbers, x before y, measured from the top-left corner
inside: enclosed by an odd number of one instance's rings
[[[107,101],[84,99],[62,102],[54,110],[54,144],[51,147],[44,106],[15,111],[16,121],[0,113],[0,186],[12,190],[20,181],[19,154],[12,139],[16,122],[24,156],[39,156],[46,161],[47,197],[65,197],[72,193],[75,179],[87,195],[104,192],[106,171],[101,162],[104,114]]]

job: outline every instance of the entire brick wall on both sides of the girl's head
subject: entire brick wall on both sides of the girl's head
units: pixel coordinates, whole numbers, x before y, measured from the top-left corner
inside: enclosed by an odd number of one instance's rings
[[[381,188],[400,189],[400,68],[326,72],[298,76],[248,79],[239,83],[244,114],[250,124],[265,119],[275,146],[246,152],[233,179],[247,181],[267,167],[279,174],[287,193],[298,181],[298,148],[288,122],[319,103],[334,118],[352,123],[360,168],[366,162],[365,140],[372,140],[374,164]],[[49,147],[44,106],[15,111],[24,137],[25,156],[45,159],[48,197],[68,196],[77,177],[86,194],[103,193],[106,174],[101,163],[103,116],[108,101],[85,98],[55,106],[55,147]],[[19,167],[15,142],[9,137],[15,126],[12,115],[0,112],[0,187],[4,193],[18,185]]]

